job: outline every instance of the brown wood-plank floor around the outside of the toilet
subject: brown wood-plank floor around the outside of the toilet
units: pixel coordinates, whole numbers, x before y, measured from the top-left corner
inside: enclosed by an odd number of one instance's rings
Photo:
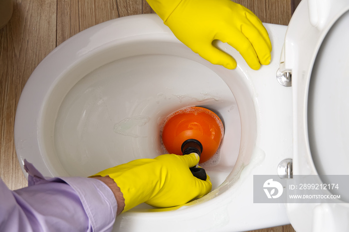
[[[283,25],[288,24],[295,1],[235,0],[263,22]],[[0,176],[9,189],[27,186],[14,149],[13,124],[20,93],[35,67],[76,33],[142,13],[154,13],[146,0],[13,0],[12,18],[0,29]],[[286,225],[255,232],[293,231]]]

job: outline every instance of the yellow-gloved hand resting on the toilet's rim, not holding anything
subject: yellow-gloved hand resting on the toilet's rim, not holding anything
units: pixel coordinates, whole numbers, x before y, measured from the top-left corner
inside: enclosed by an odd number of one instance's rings
[[[147,0],[174,35],[212,64],[235,69],[236,61],[212,45],[228,43],[254,70],[271,60],[271,43],[262,22],[231,0]]]

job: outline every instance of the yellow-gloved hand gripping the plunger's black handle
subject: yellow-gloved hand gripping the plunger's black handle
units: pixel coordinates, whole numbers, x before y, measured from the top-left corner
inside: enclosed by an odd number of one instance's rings
[[[189,167],[199,161],[190,155],[160,155],[154,159],[136,159],[93,176],[109,175],[120,187],[125,199],[123,212],[145,202],[166,208],[185,204],[211,191],[212,184],[194,177]]]

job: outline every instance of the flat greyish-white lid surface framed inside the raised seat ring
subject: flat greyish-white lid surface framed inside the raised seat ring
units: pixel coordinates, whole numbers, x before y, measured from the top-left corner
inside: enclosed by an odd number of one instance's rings
[[[349,174],[348,25],[349,11],[327,33],[309,82],[309,145],[321,175]]]

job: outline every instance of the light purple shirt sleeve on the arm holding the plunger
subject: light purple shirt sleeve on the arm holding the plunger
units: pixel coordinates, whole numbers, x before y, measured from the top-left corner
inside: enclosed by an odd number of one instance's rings
[[[117,202],[102,181],[44,178],[25,161],[28,187],[10,191],[0,179],[0,231],[112,231]]]

